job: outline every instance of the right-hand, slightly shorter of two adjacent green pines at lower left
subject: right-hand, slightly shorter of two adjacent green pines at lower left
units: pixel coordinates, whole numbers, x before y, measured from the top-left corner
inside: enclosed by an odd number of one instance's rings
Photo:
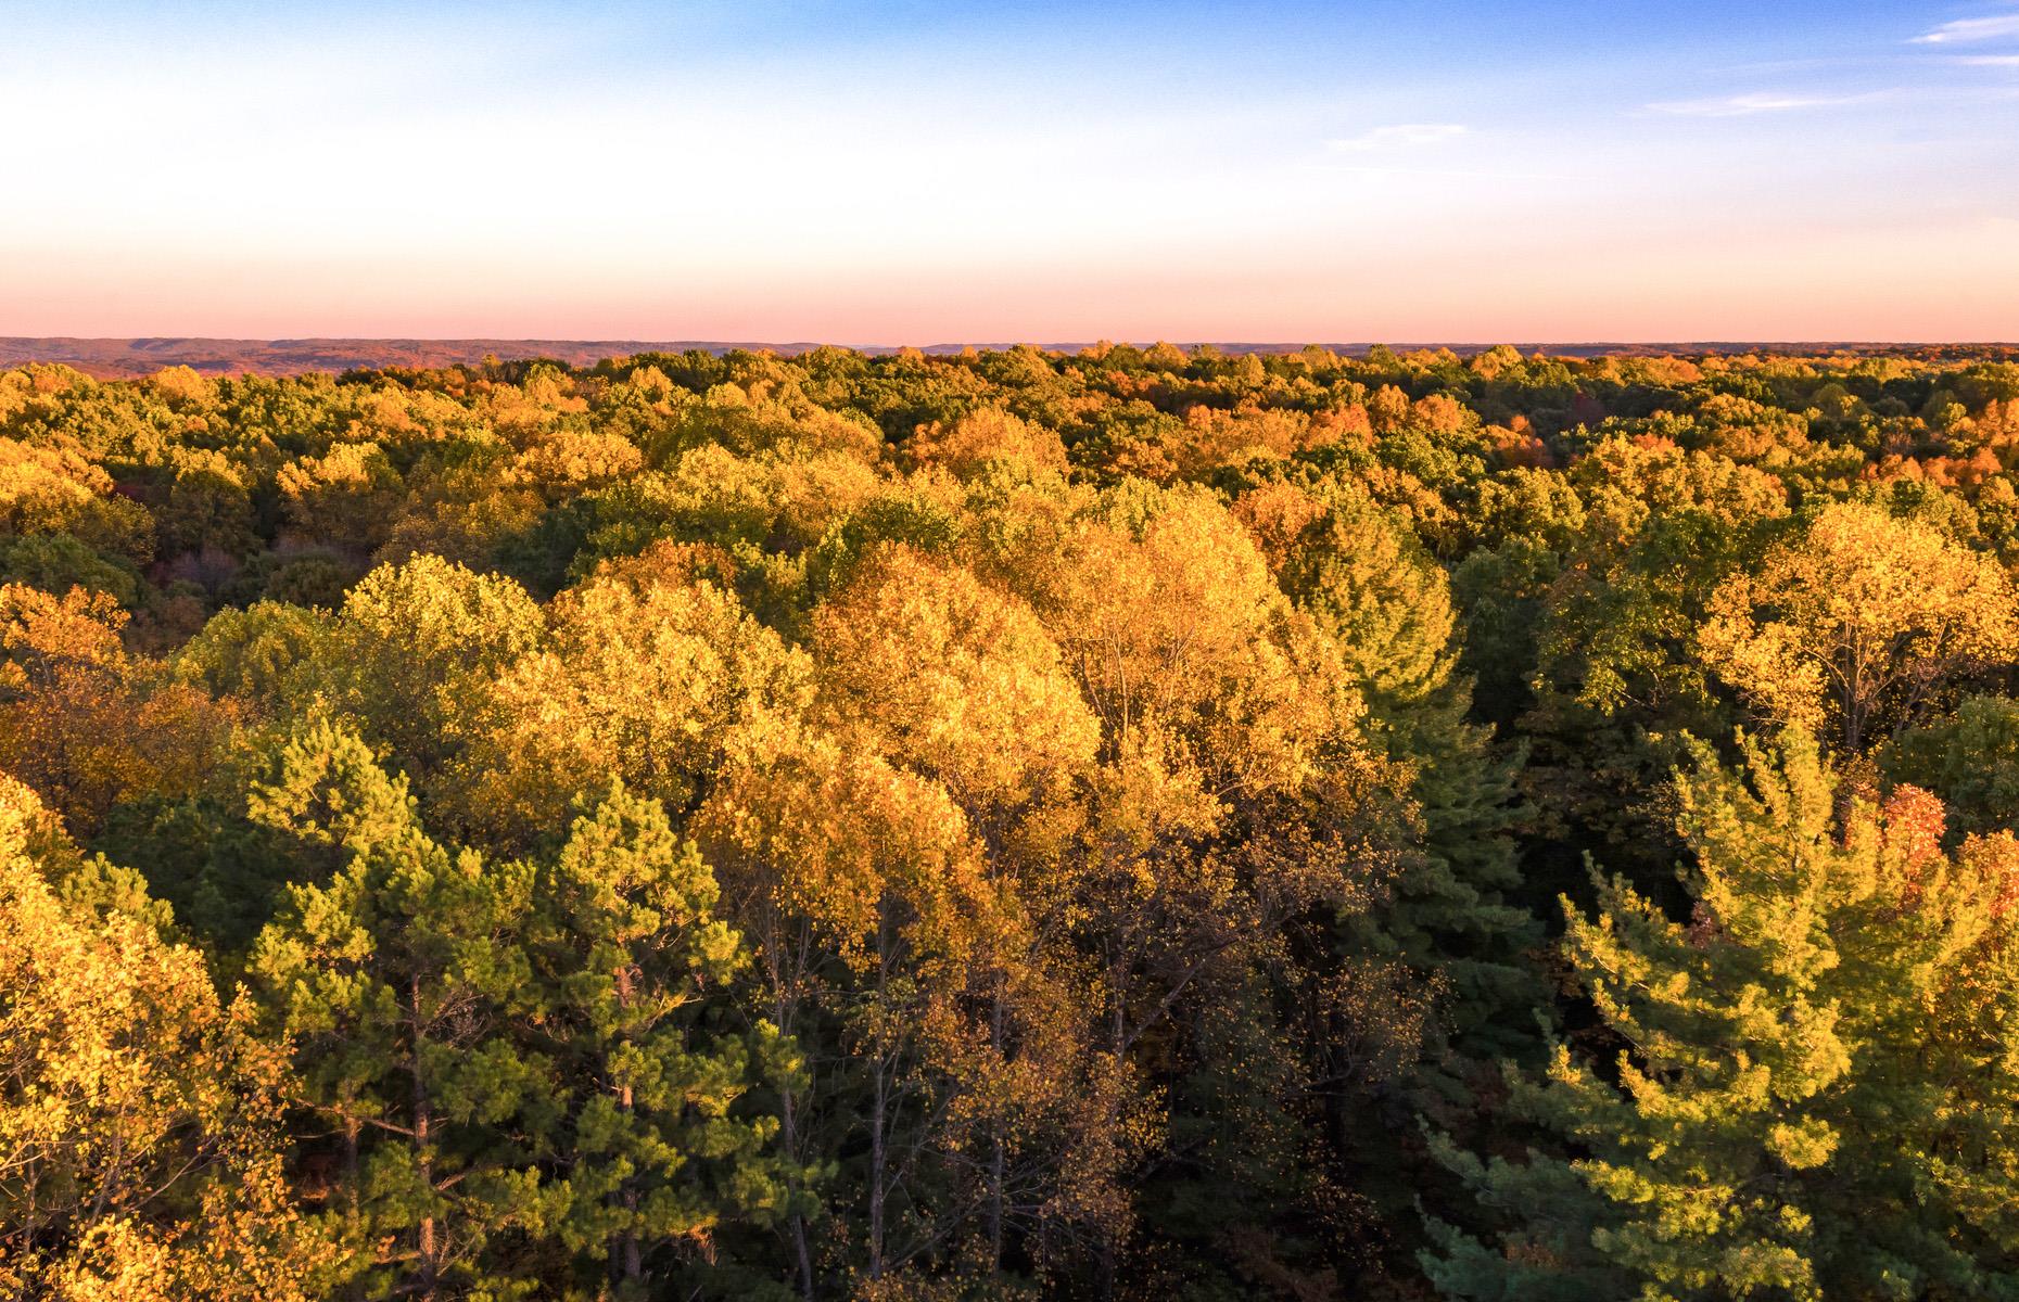
[[[743,939],[713,916],[715,874],[656,799],[612,785],[537,876],[533,969],[545,1015],[529,1027],[555,1064],[553,1235],[618,1296],[646,1298],[680,1260],[717,1262],[737,1217],[804,1215],[814,1173],[773,1155],[777,1118],[747,1096],[800,1072],[771,1023],[725,1023]],[[577,1270],[577,1276],[586,1272]],[[739,1278],[737,1294],[755,1282]]]

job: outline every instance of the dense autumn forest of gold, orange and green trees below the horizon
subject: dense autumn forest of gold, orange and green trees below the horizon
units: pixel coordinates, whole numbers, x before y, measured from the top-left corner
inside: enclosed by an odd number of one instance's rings
[[[0,373],[0,1288],[2019,1296],[2019,361]]]

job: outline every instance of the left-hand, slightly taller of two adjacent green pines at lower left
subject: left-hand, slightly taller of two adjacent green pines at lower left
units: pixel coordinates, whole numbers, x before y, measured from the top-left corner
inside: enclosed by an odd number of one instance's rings
[[[349,862],[291,888],[250,967],[297,1044],[309,1110],[339,1143],[337,1211],[363,1286],[525,1296],[487,1247],[539,1229],[557,1203],[535,1163],[551,1066],[511,1036],[537,1011],[519,941],[531,872],[430,840],[406,779],[353,735],[321,725],[289,761],[250,805]]]

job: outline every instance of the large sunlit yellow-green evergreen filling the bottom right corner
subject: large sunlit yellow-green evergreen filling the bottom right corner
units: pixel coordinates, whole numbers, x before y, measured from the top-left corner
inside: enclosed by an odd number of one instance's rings
[[[1991,1211],[2019,1191],[2009,1147],[1975,1120],[2013,1090],[2009,838],[1952,860],[1928,793],[1839,803],[1807,735],[1744,753],[1740,773],[1698,745],[1676,781],[1692,920],[1619,878],[1597,918],[1565,904],[1619,1052],[1557,1046],[1547,1078],[1510,1074],[1553,1151],[1440,1145],[1504,1217],[1492,1239],[1438,1227],[1423,1266],[1446,1296],[2019,1290]]]

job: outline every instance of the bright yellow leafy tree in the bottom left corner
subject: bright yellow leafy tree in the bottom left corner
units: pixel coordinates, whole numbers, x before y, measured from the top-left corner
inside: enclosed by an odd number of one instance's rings
[[[0,783],[0,1290],[307,1302],[331,1243],[281,1171],[285,1056],[147,916],[69,904]]]

